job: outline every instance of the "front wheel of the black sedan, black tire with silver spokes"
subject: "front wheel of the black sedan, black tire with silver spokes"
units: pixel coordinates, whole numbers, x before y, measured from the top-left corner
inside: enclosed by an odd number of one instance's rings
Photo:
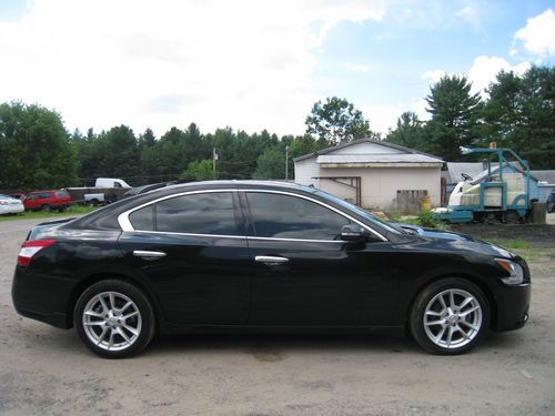
[[[452,311],[451,294],[454,305],[468,303]],[[474,307],[477,310],[470,312]],[[416,296],[408,325],[416,343],[428,353],[457,355],[482,339],[490,327],[490,315],[487,298],[478,286],[464,278],[448,277],[430,284]]]

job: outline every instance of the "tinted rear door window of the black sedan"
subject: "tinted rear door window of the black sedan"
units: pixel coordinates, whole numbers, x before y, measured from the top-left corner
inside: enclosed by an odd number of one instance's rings
[[[174,233],[240,235],[230,192],[172,197],[155,206],[157,230]]]

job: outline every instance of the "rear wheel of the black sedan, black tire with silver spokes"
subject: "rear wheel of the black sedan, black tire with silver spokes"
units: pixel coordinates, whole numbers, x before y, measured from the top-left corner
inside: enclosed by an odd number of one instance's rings
[[[109,297],[109,293],[113,294],[113,298]],[[109,312],[101,305],[99,296],[104,300]],[[112,305],[110,302],[114,302],[117,305]],[[127,302],[131,302],[132,306],[118,313],[119,308],[123,307],[122,304],[128,304]],[[94,307],[94,305],[97,306]],[[87,315],[84,314],[85,310],[89,311]],[[124,319],[122,324],[119,324],[120,317],[123,318],[134,312],[137,314],[129,317],[129,322]],[[99,316],[90,316],[90,313],[98,313]],[[109,315],[103,315],[104,313],[109,313]],[[93,325],[85,326],[84,321]],[[105,322],[105,324],[98,322]],[[138,287],[119,280],[105,280],[88,287],[77,301],[73,323],[84,345],[104,358],[127,358],[139,354],[151,342],[155,326],[154,312],[149,298]],[[134,329],[137,334],[127,328]],[[117,331],[121,331],[123,334],[120,335]],[[124,339],[124,336],[128,339]],[[112,337],[113,344],[110,347]],[[98,339],[100,342],[97,342]]]

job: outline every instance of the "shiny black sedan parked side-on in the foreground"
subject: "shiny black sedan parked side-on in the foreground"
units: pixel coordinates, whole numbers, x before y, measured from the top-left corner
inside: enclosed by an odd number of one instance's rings
[[[194,331],[407,331],[458,354],[523,326],[529,293],[526,263],[502,247],[255,181],[162,187],[39,225],[12,287],[21,315],[75,326],[113,358]]]

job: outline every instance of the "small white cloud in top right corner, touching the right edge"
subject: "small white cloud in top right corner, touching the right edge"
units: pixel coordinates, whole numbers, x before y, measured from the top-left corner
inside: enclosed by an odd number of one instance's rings
[[[515,39],[538,55],[555,54],[555,12],[547,9],[542,14],[528,19],[526,26],[515,33]]]

